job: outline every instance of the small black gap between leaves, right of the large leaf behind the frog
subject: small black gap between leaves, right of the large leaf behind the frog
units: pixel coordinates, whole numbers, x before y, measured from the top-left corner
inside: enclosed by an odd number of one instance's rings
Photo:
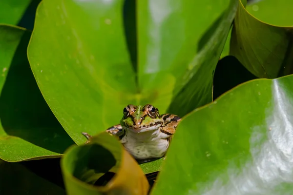
[[[218,61],[213,78],[213,100],[229,91],[233,87],[246,81],[256,79],[239,61],[233,56],[226,56]]]

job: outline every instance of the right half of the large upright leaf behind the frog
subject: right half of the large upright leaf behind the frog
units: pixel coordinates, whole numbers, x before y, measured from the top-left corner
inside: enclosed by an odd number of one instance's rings
[[[209,103],[236,5],[237,0],[138,1],[138,84],[144,97],[156,96],[162,110],[172,100],[168,112],[180,116]]]

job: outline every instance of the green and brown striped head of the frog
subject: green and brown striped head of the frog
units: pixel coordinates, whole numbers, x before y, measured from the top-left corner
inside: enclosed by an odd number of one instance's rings
[[[163,124],[163,119],[159,110],[150,104],[145,106],[129,104],[123,109],[120,124],[126,130],[141,133],[158,129]]]

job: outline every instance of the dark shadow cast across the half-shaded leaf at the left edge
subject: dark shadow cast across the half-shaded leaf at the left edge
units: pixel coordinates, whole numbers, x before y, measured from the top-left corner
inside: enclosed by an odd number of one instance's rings
[[[4,131],[46,150],[63,153],[74,144],[45,102],[26,56],[31,33],[25,31],[0,96]]]

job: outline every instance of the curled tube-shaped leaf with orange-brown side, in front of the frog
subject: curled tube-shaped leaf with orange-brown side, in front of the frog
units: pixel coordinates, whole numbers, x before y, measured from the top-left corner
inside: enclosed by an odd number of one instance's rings
[[[61,167],[68,195],[148,192],[146,176],[137,162],[116,137],[106,132],[91,137],[89,144],[70,147]],[[99,179],[109,172],[115,175],[107,183],[100,183]]]

